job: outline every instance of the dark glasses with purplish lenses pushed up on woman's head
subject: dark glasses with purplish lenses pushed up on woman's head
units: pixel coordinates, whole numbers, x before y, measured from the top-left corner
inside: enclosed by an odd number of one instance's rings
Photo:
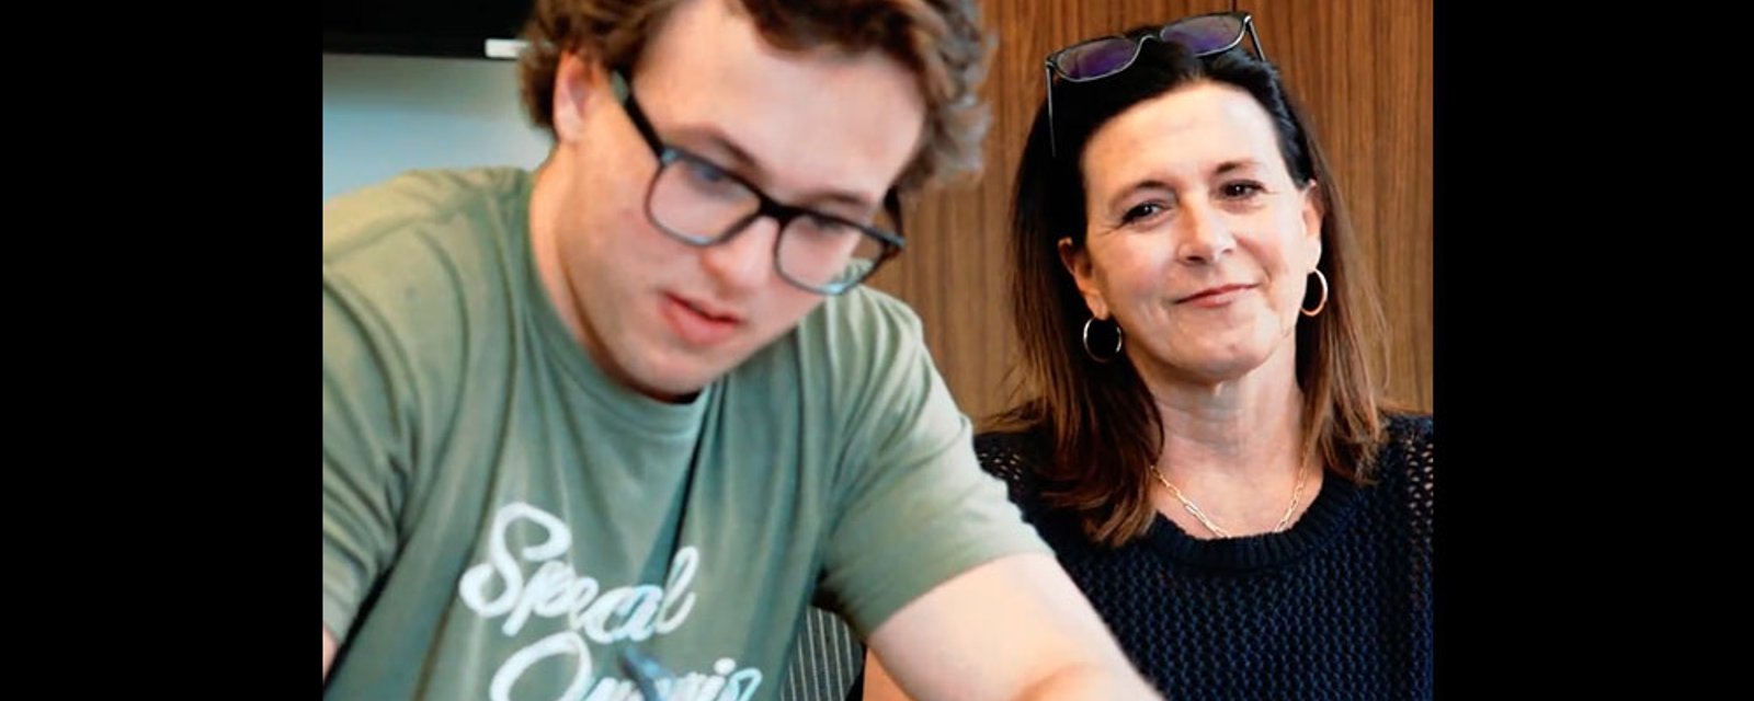
[[[1235,7],[1235,5],[1233,5]],[[1254,33],[1254,18],[1249,12],[1212,12],[1182,18],[1163,25],[1158,32],[1137,37],[1098,37],[1086,39],[1065,49],[1047,54],[1044,70],[1047,72],[1047,144],[1054,156],[1059,156],[1059,144],[1054,137],[1054,77],[1070,82],[1102,81],[1119,74],[1138,60],[1147,39],[1173,42],[1187,47],[1194,58],[1221,54],[1242,44],[1247,35],[1254,44],[1254,54],[1266,61],[1261,51],[1261,37]]]

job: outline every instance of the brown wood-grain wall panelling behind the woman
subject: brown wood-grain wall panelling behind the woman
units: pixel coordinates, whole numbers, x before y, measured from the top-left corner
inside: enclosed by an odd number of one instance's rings
[[[1010,400],[1010,186],[1042,100],[1042,58],[1142,23],[1230,9],[1226,0],[986,4],[998,51],[986,172],[907,212],[909,249],[872,286],[909,301],[951,393],[979,419]],[[1431,0],[1249,0],[1266,56],[1310,114],[1351,209],[1389,324],[1387,394],[1431,408]]]

